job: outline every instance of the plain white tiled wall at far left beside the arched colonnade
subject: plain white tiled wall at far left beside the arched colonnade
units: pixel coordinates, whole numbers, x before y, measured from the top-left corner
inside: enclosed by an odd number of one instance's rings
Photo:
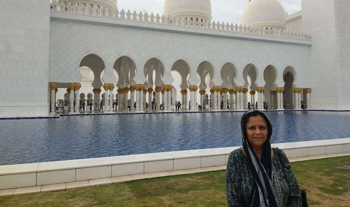
[[[0,117],[48,114],[49,16],[48,0],[0,0]]]

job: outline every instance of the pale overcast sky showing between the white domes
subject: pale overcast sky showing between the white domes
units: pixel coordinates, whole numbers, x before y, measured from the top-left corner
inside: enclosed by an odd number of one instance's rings
[[[117,0],[118,10],[124,8],[125,11],[130,9],[131,12],[137,12],[145,9],[148,14],[163,13],[165,0]],[[289,14],[301,10],[301,0],[279,0],[284,10]],[[240,23],[241,15],[248,0],[211,0],[212,20]]]

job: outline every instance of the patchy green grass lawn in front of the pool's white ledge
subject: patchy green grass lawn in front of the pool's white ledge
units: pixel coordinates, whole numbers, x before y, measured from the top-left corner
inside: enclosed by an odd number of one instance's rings
[[[350,206],[350,157],[292,163],[310,207]],[[0,197],[21,207],[227,207],[225,171],[153,178],[61,192]]]

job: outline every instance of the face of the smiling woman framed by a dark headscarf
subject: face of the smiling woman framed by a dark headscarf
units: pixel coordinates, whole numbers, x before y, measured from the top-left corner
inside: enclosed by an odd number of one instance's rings
[[[261,116],[251,116],[245,126],[251,147],[260,148],[267,140],[267,123]]]

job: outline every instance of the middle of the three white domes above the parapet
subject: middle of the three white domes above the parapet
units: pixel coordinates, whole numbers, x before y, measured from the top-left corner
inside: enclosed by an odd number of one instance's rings
[[[211,20],[210,0],[165,0],[164,15]]]

